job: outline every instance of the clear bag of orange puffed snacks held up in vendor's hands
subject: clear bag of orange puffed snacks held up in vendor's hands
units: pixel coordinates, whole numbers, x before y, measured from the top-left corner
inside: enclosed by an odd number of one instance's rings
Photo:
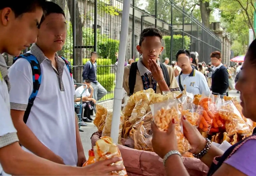
[[[150,108],[153,114],[153,121],[161,131],[167,131],[172,119],[175,119],[178,151],[181,154],[188,152],[191,145],[183,135],[181,112],[179,111],[177,101],[167,100],[161,103],[155,103],[150,105]]]

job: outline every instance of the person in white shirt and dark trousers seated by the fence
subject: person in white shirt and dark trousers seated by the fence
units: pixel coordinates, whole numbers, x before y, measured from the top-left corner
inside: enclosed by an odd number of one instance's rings
[[[96,103],[96,100],[93,99],[93,87],[90,85],[89,79],[84,80],[84,84],[86,84],[86,86],[78,87],[75,90],[75,93],[77,97],[80,97],[84,92],[82,97],[88,98],[87,101],[83,101],[84,113],[83,113],[82,119],[85,122],[93,122],[93,119],[90,117],[91,115],[93,115],[93,104]],[[86,90],[84,91],[85,88]]]

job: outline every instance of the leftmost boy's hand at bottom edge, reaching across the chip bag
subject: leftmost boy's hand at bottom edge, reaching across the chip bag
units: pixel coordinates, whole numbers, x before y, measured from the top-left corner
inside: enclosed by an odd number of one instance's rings
[[[84,173],[81,173],[81,175],[86,175],[86,176],[110,175],[110,172],[120,171],[124,169],[124,166],[121,166],[121,165],[115,165],[115,164],[111,165],[112,163],[115,163],[121,160],[122,158],[115,157],[115,158],[110,158],[104,161],[97,161],[94,164],[90,164],[83,167]]]

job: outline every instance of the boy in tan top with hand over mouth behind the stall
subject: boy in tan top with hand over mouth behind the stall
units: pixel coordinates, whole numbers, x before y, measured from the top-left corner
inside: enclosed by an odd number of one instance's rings
[[[148,27],[141,32],[137,45],[141,57],[138,62],[124,67],[123,88],[127,95],[148,88],[152,88],[156,93],[163,91],[179,93],[179,85],[173,69],[157,60],[163,51],[162,38],[161,31],[155,27]]]

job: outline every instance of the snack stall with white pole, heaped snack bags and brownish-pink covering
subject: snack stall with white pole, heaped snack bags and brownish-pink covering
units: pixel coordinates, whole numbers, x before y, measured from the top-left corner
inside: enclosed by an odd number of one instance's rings
[[[172,119],[179,121],[181,115],[184,115],[204,137],[216,143],[227,141],[234,144],[250,135],[255,125],[243,117],[241,107],[234,99],[226,97],[222,100],[213,95],[193,96],[185,91],[181,95],[169,92],[161,95],[154,93],[152,89],[136,92],[128,100],[126,99],[127,94],[122,88],[122,82],[130,8],[124,7],[130,7],[130,0],[124,0],[122,8],[114,109],[113,112],[108,112],[102,106],[96,107],[94,124],[98,131],[91,137],[92,147],[95,148],[94,153],[100,152],[98,156],[101,156],[105,150],[103,155],[106,156],[105,158],[119,156],[121,153],[128,176],[165,176],[163,160],[152,149],[152,120],[160,129],[165,130],[168,122]],[[125,101],[122,105],[123,98]],[[122,112],[121,106],[124,107]],[[171,115],[166,116],[166,114]],[[182,127],[177,125],[177,130],[179,131],[177,135],[179,150],[183,154],[183,163],[189,174],[206,176],[208,167],[188,152],[190,144],[181,132]],[[113,141],[106,138],[100,139],[102,136],[111,136]],[[103,141],[99,142],[99,140]],[[119,144],[117,145],[119,150],[113,143]],[[106,145],[111,147],[105,147]],[[114,155],[108,154],[111,153],[110,148],[115,151]],[[98,160],[101,159],[104,158],[98,157]],[[112,173],[112,175],[118,174]],[[126,175],[126,172],[124,171],[122,175]]]

